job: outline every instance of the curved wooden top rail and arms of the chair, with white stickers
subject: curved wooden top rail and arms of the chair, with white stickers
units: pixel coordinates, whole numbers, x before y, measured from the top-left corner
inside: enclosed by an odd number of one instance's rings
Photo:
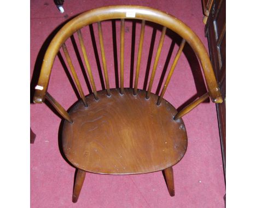
[[[176,32],[193,48],[205,75],[207,89],[213,102],[222,102],[222,96],[214,76],[211,61],[199,37],[182,21],[167,13],[149,7],[122,5],[101,7],[86,11],[67,22],[51,41],[42,64],[38,85],[34,94],[35,103],[43,103],[48,88],[51,68],[62,44],[78,29],[91,23],[111,19],[140,19],[158,23]]]

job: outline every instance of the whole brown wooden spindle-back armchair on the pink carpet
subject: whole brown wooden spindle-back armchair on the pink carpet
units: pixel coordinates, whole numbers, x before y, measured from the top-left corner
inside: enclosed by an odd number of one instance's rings
[[[110,89],[104,52],[101,21],[120,19],[120,88]],[[124,87],[124,34],[125,19],[141,21],[136,76],[133,88]],[[152,74],[147,90],[138,89],[139,69],[143,56],[143,37],[146,21],[162,26],[161,38],[156,52]],[[106,90],[97,91],[94,76],[86,53],[82,29],[97,23]],[[164,42],[166,29],[182,37],[178,52],[168,72],[160,95],[153,94],[156,67]],[[84,95],[79,78],[74,70],[65,41],[77,33],[93,94]],[[181,56],[185,43],[193,48],[207,84],[208,92],[187,107],[177,110],[166,101],[165,94],[173,70]],[[62,48],[72,72],[81,99],[69,112],[48,92],[51,69],[55,57]],[[35,103],[47,99],[65,119],[62,126],[62,148],[65,156],[78,169],[75,179],[73,201],[77,201],[85,173],[141,174],[164,170],[168,191],[174,196],[174,164],[181,161],[187,150],[187,132],[183,115],[211,97],[213,102],[222,102],[222,96],[214,77],[207,51],[197,35],[176,17],[159,10],[138,6],[111,6],[87,11],[67,22],[54,36],[45,53],[38,85],[34,94]]]

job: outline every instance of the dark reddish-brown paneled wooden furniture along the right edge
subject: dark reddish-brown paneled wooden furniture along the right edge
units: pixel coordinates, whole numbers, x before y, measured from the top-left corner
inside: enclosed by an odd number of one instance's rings
[[[226,1],[213,1],[208,17],[205,34],[208,38],[212,66],[217,77],[220,91],[226,98]],[[220,143],[223,156],[224,174],[226,172],[226,106],[218,103]]]

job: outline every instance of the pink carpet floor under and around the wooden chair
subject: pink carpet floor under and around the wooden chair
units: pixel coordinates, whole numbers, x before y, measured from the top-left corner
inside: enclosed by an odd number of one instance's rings
[[[31,80],[34,85],[34,77],[40,70],[40,63],[45,52],[45,46],[49,44],[49,35],[72,16],[82,11],[105,5],[144,5],[153,7],[176,16],[185,22],[201,38],[208,49],[207,39],[204,35],[202,23],[201,0],[189,1],[65,1],[65,13],[61,14],[53,1],[31,0]],[[118,63],[114,61],[112,22],[102,23],[104,44],[107,54],[107,66],[109,69],[110,88],[115,88],[115,70],[119,67],[119,29],[120,22],[116,22],[117,56]],[[97,27],[93,28],[98,56],[101,60],[98,43]],[[127,21],[125,25],[125,87],[130,85],[130,66],[133,63],[136,69],[136,57],[138,50],[139,23],[136,24],[136,39],[133,40],[135,25]],[[102,88],[98,72],[98,63],[92,47],[92,39],[89,28],[82,30],[86,49],[88,50],[91,68],[95,75],[97,89]],[[156,33],[152,26],[146,27],[144,39],[144,53],[141,64],[141,77],[139,88],[143,88],[143,82],[147,69],[152,70],[156,47],[160,38],[160,30]],[[155,41],[152,41],[155,39]],[[77,42],[77,36],[74,37]],[[172,39],[174,41],[172,41]],[[159,60],[155,80],[161,77],[164,69],[170,69],[177,44],[180,39],[172,33],[167,33],[164,47]],[[154,42],[154,47],[152,47]],[[135,43],[135,52],[131,53],[131,46]],[[174,46],[174,47],[173,47]],[[85,94],[89,93],[84,82],[83,67],[75,58],[72,41],[67,41],[67,47],[73,58],[75,69],[82,82]],[[149,51],[153,50],[153,56],[148,62]],[[80,51],[79,45],[78,50]],[[63,54],[62,54],[63,56]],[[133,62],[131,57],[135,57]],[[171,56],[170,62],[166,57]],[[63,61],[57,57],[51,74],[49,93],[68,109],[77,96],[72,84],[63,70]],[[100,62],[101,68],[102,64]],[[149,67],[150,66],[150,67]],[[134,77],[133,77],[134,78]],[[196,79],[196,81],[195,81]],[[153,92],[158,89],[158,83],[154,83]],[[205,93],[200,66],[190,48],[186,46],[184,54],[178,62],[171,83],[166,91],[165,99],[176,108],[181,108],[188,100]],[[31,144],[31,207],[224,207],[223,196],[225,194],[225,182],[222,167],[222,155],[218,132],[216,106],[212,102],[199,105],[194,111],[183,118],[188,133],[188,150],[184,158],[173,167],[175,197],[170,197],[162,172],[142,175],[99,175],[86,174],[84,186],[76,204],[72,203],[72,190],[75,168],[70,166],[61,156],[58,145],[58,133],[60,117],[53,113],[46,105],[34,105],[31,103],[31,128],[37,134],[34,144]]]

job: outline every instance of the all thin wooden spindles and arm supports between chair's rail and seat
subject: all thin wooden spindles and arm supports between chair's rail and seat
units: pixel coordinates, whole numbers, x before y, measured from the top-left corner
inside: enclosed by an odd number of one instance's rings
[[[136,75],[135,75],[135,82],[134,82],[134,88],[133,88],[133,95],[137,95],[138,77],[139,77],[139,69],[140,69],[140,64],[141,64],[145,24],[146,24],[146,21],[142,20],[141,34],[140,34],[140,38],[139,38],[139,47],[138,47],[137,66],[136,66]],[[107,95],[110,96],[109,79],[108,79],[108,71],[107,71],[106,57],[105,57],[105,51],[104,51],[103,33],[102,33],[101,22],[97,22],[97,25],[98,25],[98,36],[99,36],[99,39],[100,39],[101,57],[102,57],[102,65],[103,65],[103,71],[104,71],[104,79],[105,79],[105,84],[106,84],[106,91],[107,91]],[[87,56],[87,53],[86,53],[82,32],[81,32],[80,29],[77,31],[77,34],[78,34],[79,44],[80,44],[80,47],[82,49],[85,65],[86,65],[88,75],[89,75],[89,78],[90,78],[92,91],[94,93],[95,100],[98,100],[98,94],[97,94],[97,90],[96,90],[96,86],[95,86],[95,82],[94,82],[94,77],[92,76],[91,66],[90,66],[90,63],[89,63],[89,60],[88,60],[88,56]],[[146,99],[149,99],[149,96],[150,96],[150,93],[151,93],[151,90],[152,90],[152,85],[153,85],[153,82],[154,82],[155,72],[156,72],[156,68],[158,66],[158,61],[159,61],[159,58],[160,58],[162,45],[164,43],[165,34],[166,34],[166,27],[163,27],[162,32],[161,32],[161,37],[160,37],[160,40],[159,40],[159,44],[158,44],[158,51],[156,52],[156,56],[155,56],[155,60],[154,60],[153,70],[152,70],[152,73],[151,73],[151,76],[150,76],[150,81],[149,81],[149,85],[148,85],[148,89],[147,89]],[[125,36],[125,19],[121,19],[121,31],[120,31],[120,94],[124,94],[124,36]],[[181,56],[181,53],[182,53],[182,50],[184,48],[185,42],[186,41],[184,39],[182,39],[182,42],[179,45],[179,49],[176,53],[176,56],[174,58],[174,61],[173,61],[172,65],[171,65],[170,71],[168,72],[168,76],[166,78],[164,87],[162,88],[161,94],[158,98],[158,101],[157,101],[156,105],[160,105],[162,97],[164,97],[165,91],[166,91],[167,86],[170,82],[173,71],[174,71],[174,69],[175,69],[175,67],[178,63],[179,57]],[[71,70],[72,76],[74,78],[75,84],[77,85],[77,88],[78,88],[79,94],[81,96],[81,99],[82,99],[85,107],[88,107],[88,103],[86,102],[82,86],[79,82],[77,73],[75,72],[71,57],[69,56],[69,53],[68,53],[68,50],[67,50],[67,47],[66,47],[65,43],[62,45],[62,50],[65,54],[67,63],[69,65],[69,69]],[[206,100],[207,97],[209,97],[209,96],[210,95],[208,93],[206,93],[205,95],[199,97],[199,99],[190,103],[188,106],[183,108],[182,111],[178,112],[175,115],[174,120],[177,120],[177,119],[183,117],[183,115],[190,112],[197,105],[199,105],[201,102]],[[57,110],[57,112],[59,112],[62,115],[63,118],[65,118],[67,121],[69,121],[69,123],[73,123],[72,118],[65,111],[65,109],[48,92],[46,93],[46,99],[49,100],[51,105],[54,106],[54,108]]]

